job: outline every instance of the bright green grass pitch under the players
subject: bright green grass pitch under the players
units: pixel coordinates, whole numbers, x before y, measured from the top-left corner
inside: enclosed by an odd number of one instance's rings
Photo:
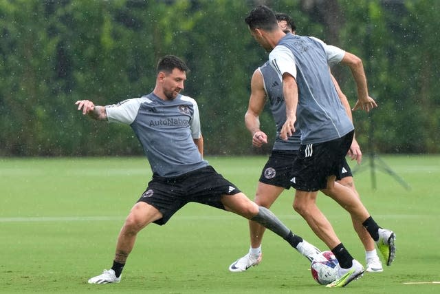
[[[254,198],[265,157],[207,159]],[[382,159],[410,191],[382,171],[376,171],[375,190],[370,169],[355,181],[373,218],[395,231],[396,260],[384,273],[329,289],[316,284],[307,260],[272,232],[259,266],[230,273],[229,264],[249,248],[247,221],[192,203],[165,226],[141,231],[120,284],[89,285],[89,277],[111,266],[118,231],[151,178],[146,160],[0,158],[0,293],[439,293],[440,284],[404,283],[440,281],[440,156]],[[324,249],[292,200],[293,191],[285,191],[272,211]],[[363,262],[348,213],[322,194],[318,204]]]

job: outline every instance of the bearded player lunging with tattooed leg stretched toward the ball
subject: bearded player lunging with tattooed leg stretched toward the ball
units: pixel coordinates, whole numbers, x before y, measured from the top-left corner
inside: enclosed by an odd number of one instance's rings
[[[88,100],[76,101],[78,110],[90,118],[130,125],[153,171],[153,179],[134,204],[118,235],[111,269],[91,277],[89,284],[120,282],[137,233],[151,222],[166,224],[188,202],[210,205],[254,220],[301,253],[310,253],[309,260],[319,252],[203,160],[197,103],[179,93],[184,89],[187,71],[188,67],[178,57],[164,56],[157,64],[156,85],[150,94],[107,106],[94,105]]]

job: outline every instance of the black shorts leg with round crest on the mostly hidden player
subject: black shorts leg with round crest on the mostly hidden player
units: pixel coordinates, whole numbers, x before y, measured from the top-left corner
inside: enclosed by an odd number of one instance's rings
[[[276,187],[290,189],[292,178],[292,165],[298,150],[272,150],[263,171],[261,171],[260,182]]]

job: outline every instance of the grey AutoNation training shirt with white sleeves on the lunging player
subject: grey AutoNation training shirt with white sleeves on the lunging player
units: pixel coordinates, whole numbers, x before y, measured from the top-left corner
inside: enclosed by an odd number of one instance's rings
[[[208,165],[193,140],[201,137],[194,99],[179,94],[164,101],[151,93],[105,109],[109,122],[131,126],[154,174],[180,176]]]

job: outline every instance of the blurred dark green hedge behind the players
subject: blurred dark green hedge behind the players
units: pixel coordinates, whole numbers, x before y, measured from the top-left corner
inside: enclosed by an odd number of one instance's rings
[[[199,103],[206,154],[269,151],[251,146],[243,123],[267,59],[244,22],[260,3],[362,58],[380,105],[354,114],[364,151],[439,153],[440,1],[0,0],[0,156],[142,154],[129,127],[91,121],[74,103],[148,94],[165,54],[191,69],[184,94]],[[333,73],[354,105],[350,71]],[[273,140],[268,109],[261,125]]]

